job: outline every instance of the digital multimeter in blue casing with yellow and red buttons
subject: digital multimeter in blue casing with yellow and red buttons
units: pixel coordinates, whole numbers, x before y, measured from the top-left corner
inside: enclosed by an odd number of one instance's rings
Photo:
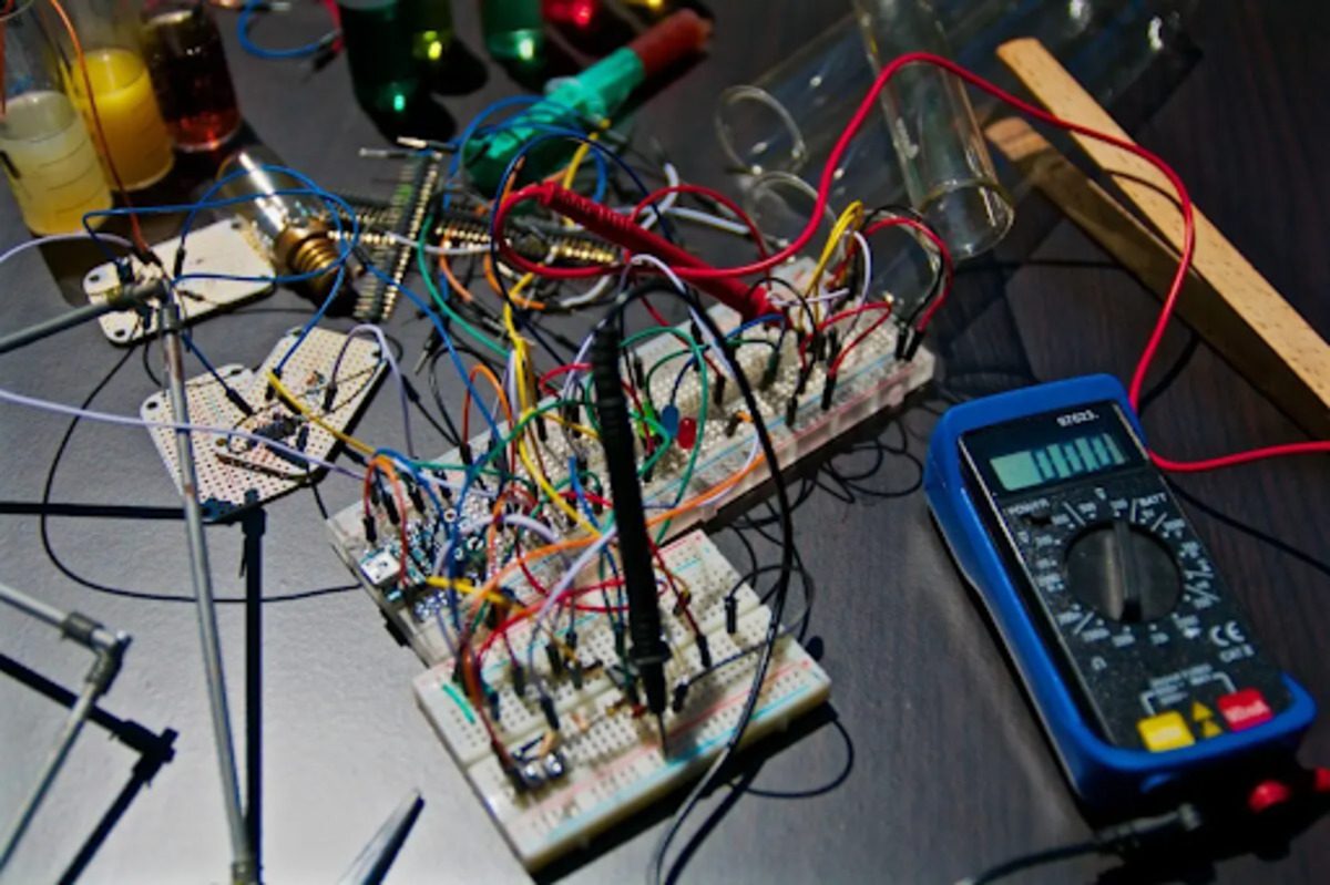
[[[924,490],[1091,805],[1293,751],[1307,692],[1245,617],[1107,375],[948,409]]]

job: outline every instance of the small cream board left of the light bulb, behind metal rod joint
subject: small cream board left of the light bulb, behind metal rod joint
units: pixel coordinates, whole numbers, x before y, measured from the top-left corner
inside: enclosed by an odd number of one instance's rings
[[[258,279],[188,279],[177,287],[181,318],[186,324],[221,310],[229,310],[271,291],[273,263],[254,247],[239,219],[219,221],[207,227],[200,227],[185,241],[185,274],[227,274],[231,276],[253,276]],[[168,239],[153,246],[165,267],[173,267],[180,238]],[[148,275],[156,270],[146,268],[137,258],[130,258],[136,275]],[[93,267],[84,275],[84,292],[92,303],[105,302],[120,288],[116,266],[110,262]],[[97,319],[102,334],[113,344],[133,344],[157,334],[157,315],[149,311],[142,318],[134,311],[104,314]]]

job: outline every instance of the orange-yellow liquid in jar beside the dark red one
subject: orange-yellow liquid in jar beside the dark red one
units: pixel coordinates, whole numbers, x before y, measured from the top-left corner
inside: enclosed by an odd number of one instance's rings
[[[128,49],[93,49],[86,53],[88,80],[97,97],[97,116],[110,158],[129,190],[148,187],[162,179],[176,161],[170,133],[157,108],[157,96],[148,78],[148,65]],[[97,141],[96,124],[84,93],[82,72],[74,64],[68,72],[69,94],[88,121]],[[110,178],[108,170],[108,178]]]

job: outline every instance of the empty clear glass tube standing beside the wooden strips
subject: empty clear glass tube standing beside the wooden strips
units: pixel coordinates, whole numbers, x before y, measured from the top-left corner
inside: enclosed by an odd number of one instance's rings
[[[926,50],[951,57],[928,0],[854,0],[874,70]],[[998,183],[984,134],[962,81],[931,65],[910,65],[882,90],[910,202],[956,258],[986,252],[1015,218]]]

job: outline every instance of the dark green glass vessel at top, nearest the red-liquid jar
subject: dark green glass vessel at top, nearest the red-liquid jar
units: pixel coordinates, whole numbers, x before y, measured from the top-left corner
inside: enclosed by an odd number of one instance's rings
[[[407,113],[423,94],[420,65],[414,53],[403,52],[414,43],[412,4],[408,0],[338,0],[336,5],[356,101],[371,114],[399,117]]]

